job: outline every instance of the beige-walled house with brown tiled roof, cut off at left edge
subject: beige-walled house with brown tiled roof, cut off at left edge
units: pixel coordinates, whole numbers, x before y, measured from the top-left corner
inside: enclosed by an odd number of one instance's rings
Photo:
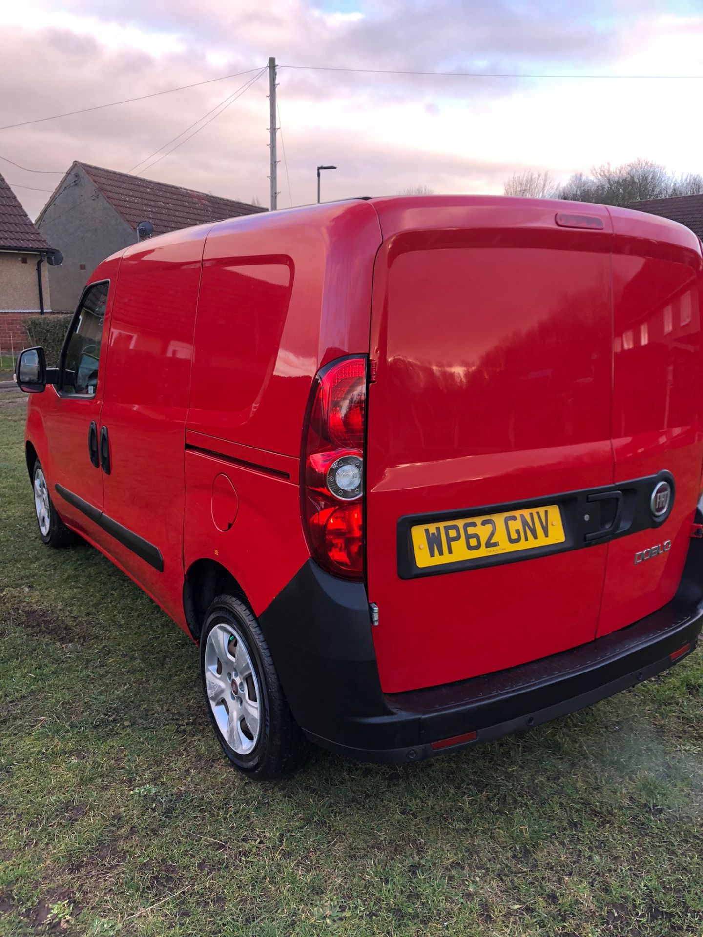
[[[46,259],[52,246],[40,234],[0,175],[0,351],[24,348],[22,320],[51,312]]]

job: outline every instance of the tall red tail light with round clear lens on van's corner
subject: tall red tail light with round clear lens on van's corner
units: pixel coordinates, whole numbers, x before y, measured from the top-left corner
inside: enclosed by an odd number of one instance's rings
[[[329,573],[364,577],[366,358],[339,358],[315,378],[301,495],[310,553]]]

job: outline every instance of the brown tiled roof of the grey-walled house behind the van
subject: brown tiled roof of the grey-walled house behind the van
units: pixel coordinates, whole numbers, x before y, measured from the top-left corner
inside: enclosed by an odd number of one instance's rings
[[[129,175],[127,172],[103,170],[99,166],[77,162],[92,179],[105,198],[122,216],[133,231],[140,221],[151,221],[155,234],[178,231],[192,225],[202,225],[222,218],[253,215],[264,212],[246,201],[221,199],[217,195],[196,192],[192,188],[169,186],[153,179]]]

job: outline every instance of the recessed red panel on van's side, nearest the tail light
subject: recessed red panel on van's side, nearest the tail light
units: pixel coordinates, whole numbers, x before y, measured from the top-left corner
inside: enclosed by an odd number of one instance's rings
[[[196,321],[192,409],[246,423],[273,373],[292,292],[292,260],[206,260]]]

